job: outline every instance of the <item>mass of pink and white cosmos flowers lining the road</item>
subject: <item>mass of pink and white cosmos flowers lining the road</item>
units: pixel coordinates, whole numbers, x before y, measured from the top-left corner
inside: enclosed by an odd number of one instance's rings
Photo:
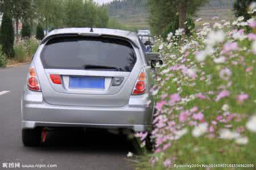
[[[242,25],[250,25],[251,32]],[[155,44],[165,62],[151,89],[155,150],[138,160],[137,169],[171,169],[174,164],[247,164],[254,169],[255,18],[205,24],[192,37],[159,38]],[[146,133],[135,136],[145,142]],[[220,167],[229,168],[245,169]]]

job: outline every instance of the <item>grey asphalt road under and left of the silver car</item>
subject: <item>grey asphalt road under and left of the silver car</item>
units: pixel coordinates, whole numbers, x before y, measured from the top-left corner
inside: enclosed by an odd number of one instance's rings
[[[5,163],[20,163],[17,169],[37,169],[22,168],[21,164],[57,165],[40,169],[133,169],[126,156],[133,151],[131,143],[125,136],[102,130],[51,131],[44,145],[24,147],[20,98],[27,71],[27,64],[0,69],[0,169],[15,169],[3,168]]]

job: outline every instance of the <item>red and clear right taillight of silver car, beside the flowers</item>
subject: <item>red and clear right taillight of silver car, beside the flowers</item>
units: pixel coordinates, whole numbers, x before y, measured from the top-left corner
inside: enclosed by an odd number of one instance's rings
[[[142,95],[147,90],[147,77],[144,71],[139,73],[135,86],[133,88],[133,95]]]

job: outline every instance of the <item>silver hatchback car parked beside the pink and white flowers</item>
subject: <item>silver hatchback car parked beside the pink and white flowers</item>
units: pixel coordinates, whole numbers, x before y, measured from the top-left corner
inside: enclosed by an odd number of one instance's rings
[[[53,30],[28,71],[21,101],[24,145],[39,145],[44,127],[147,130],[154,112],[149,91],[155,62],[147,60],[134,32]]]

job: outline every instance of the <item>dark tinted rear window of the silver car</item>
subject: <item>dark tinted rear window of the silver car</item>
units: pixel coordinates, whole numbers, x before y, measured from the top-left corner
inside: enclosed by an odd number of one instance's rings
[[[109,37],[56,37],[41,53],[45,69],[130,72],[136,54],[130,42]]]

